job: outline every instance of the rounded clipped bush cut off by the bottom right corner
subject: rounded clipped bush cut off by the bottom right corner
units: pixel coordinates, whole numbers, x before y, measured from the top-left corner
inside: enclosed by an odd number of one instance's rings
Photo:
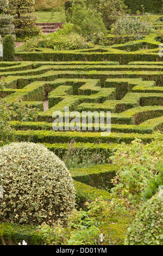
[[[163,190],[137,213],[128,228],[125,245],[163,245]]]

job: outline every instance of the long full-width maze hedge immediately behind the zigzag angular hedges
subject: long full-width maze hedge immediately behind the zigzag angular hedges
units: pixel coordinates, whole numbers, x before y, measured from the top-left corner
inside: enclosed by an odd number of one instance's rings
[[[101,85],[105,83],[105,80],[109,78],[142,78],[142,80],[155,81],[156,86],[162,86],[162,74],[163,71],[149,71],[142,68],[142,71],[131,70],[110,70],[110,71],[77,71],[77,70],[51,70],[47,67],[41,67],[39,70],[29,70],[20,72],[3,72],[0,76],[5,76],[8,87],[14,88],[17,84],[17,88],[23,88],[28,83],[34,81],[54,81],[58,78],[78,78],[78,79],[99,79]],[[14,84],[14,85],[13,85]]]

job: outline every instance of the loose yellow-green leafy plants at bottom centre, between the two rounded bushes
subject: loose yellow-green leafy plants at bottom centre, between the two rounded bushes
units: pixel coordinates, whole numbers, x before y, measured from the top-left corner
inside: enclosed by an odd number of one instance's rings
[[[112,222],[120,229],[121,235],[115,236]],[[120,213],[111,209],[105,200],[96,198],[87,201],[84,210],[74,210],[68,216],[66,227],[61,222],[52,227],[43,223],[39,232],[46,245],[121,245],[127,227],[128,223]]]

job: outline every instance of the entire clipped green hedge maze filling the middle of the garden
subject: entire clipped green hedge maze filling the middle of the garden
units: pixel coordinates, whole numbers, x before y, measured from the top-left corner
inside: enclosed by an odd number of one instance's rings
[[[23,99],[25,105],[39,109],[37,121],[11,122],[17,140],[43,143],[55,154],[62,152],[60,156],[74,140],[74,147],[87,149],[90,154],[98,150],[106,158],[116,150],[117,143],[130,143],[135,138],[150,142],[153,132],[163,128],[163,62],[158,56],[157,43],[146,41],[150,47],[144,53],[140,49],[142,42],[137,44],[125,44],[123,50],[122,45],[116,45],[104,47],[103,51],[95,47],[55,54],[40,49],[40,52],[16,53],[16,59],[23,60],[0,62],[0,76],[7,82],[0,97],[8,103]],[[109,57],[104,58],[109,49]],[[140,51],[143,57],[138,59]],[[77,60],[78,54],[81,58]],[[64,113],[65,107],[80,113],[110,111],[110,135],[101,136],[95,123],[92,131],[89,127],[84,131],[81,127],[77,131],[54,131],[53,113]],[[99,194],[109,197],[103,188],[111,186],[110,179],[115,175],[111,164],[71,173],[80,199]]]

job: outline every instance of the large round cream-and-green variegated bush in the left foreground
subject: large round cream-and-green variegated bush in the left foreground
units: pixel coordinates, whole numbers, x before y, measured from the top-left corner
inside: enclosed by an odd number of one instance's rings
[[[11,143],[0,148],[0,221],[48,224],[75,206],[73,180],[65,163],[46,147]]]

